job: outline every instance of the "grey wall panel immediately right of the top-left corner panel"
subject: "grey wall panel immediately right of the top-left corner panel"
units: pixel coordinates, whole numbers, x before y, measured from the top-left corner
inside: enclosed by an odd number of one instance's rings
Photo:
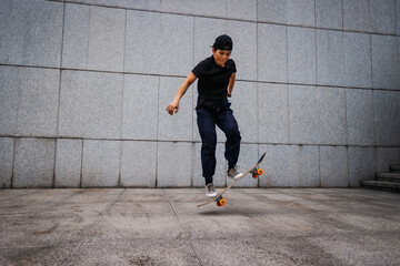
[[[66,6],[64,68],[123,71],[126,11]]]

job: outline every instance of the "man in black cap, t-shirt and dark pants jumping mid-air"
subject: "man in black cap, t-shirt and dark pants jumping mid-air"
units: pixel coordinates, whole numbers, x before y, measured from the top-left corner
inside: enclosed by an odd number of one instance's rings
[[[232,96],[236,64],[229,59],[233,42],[229,35],[220,35],[212,45],[212,55],[198,63],[180,85],[173,101],[167,106],[167,112],[172,115],[179,110],[179,102],[188,88],[197,80],[199,98],[197,102],[197,122],[201,136],[201,166],[206,178],[206,194],[217,196],[212,183],[216,173],[216,124],[227,136],[224,156],[228,161],[228,176],[239,178],[237,162],[240,152],[240,132],[238,122],[230,109],[228,98]]]

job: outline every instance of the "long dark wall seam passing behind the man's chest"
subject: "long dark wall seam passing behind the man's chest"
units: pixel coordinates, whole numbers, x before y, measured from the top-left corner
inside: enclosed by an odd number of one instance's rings
[[[158,76],[158,78],[186,78],[184,75],[169,75],[169,74],[152,74],[152,73],[140,73],[140,72],[121,72],[121,71],[107,71],[107,70],[87,70],[87,69],[68,69],[68,68],[54,68],[54,66],[40,66],[40,65],[22,65],[22,64],[4,64],[0,63],[0,66],[8,68],[29,68],[29,69],[44,69],[44,70],[60,70],[60,71],[76,71],[76,72],[94,72],[106,74],[122,74],[122,75],[146,75],[146,76]],[[373,91],[391,91],[400,92],[399,89],[388,88],[366,88],[366,86],[343,86],[333,84],[312,84],[312,83],[290,83],[290,82],[273,82],[262,80],[244,80],[238,79],[238,82],[260,83],[260,84],[281,84],[281,85],[297,85],[297,86],[316,86],[316,88],[338,88],[338,89],[351,89],[351,90],[373,90]]]

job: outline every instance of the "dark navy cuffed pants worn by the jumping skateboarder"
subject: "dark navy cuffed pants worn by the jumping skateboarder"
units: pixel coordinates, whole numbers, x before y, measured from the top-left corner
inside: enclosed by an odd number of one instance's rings
[[[233,111],[228,106],[219,111],[210,112],[207,109],[197,109],[197,121],[202,141],[201,145],[201,166],[206,184],[212,183],[212,176],[216,173],[216,147],[217,132],[216,124],[227,135],[224,156],[228,161],[229,168],[233,167],[240,152],[240,132],[238,122],[233,116]]]

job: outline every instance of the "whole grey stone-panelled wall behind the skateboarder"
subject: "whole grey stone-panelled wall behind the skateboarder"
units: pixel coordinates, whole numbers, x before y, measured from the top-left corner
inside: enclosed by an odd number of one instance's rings
[[[268,154],[243,186],[359,186],[400,162],[400,0],[1,0],[0,187],[202,186],[196,85],[164,109],[222,33],[239,164]]]

